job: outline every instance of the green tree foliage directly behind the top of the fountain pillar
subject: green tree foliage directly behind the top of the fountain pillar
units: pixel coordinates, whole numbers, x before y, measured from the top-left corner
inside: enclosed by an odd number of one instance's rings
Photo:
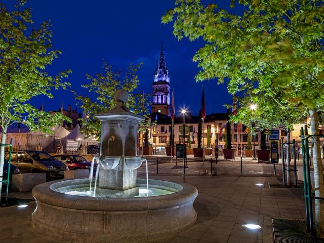
[[[107,62],[103,62],[103,73],[98,73],[96,76],[87,74],[87,79],[90,83],[82,85],[88,92],[96,95],[95,99],[91,99],[88,96],[78,95],[73,91],[75,98],[78,100],[78,105],[85,111],[87,111],[87,118],[83,118],[83,132],[86,136],[96,135],[98,139],[101,137],[101,123],[95,117],[95,114],[105,113],[116,106],[114,100],[115,91],[118,89],[124,89],[128,92],[129,98],[126,103],[129,108],[135,114],[140,114],[145,117],[142,123],[139,125],[139,131],[148,134],[148,128],[154,123],[150,123],[150,116],[148,113],[149,95],[145,93],[136,93],[134,90],[138,87],[139,79],[137,76],[138,69],[142,66],[142,63],[138,65],[130,64],[127,70],[114,72],[112,66]],[[146,138],[148,135],[146,135]],[[148,144],[148,143],[147,143]]]

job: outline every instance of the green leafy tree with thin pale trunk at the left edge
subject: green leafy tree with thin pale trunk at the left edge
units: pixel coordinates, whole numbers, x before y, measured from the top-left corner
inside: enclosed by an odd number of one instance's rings
[[[8,127],[23,121],[32,131],[53,132],[51,126],[67,120],[60,113],[51,115],[28,104],[35,96],[53,98],[52,89],[65,89],[63,82],[71,72],[62,71],[51,76],[46,67],[58,57],[59,50],[51,50],[52,31],[44,21],[39,29],[31,28],[31,9],[23,8],[25,1],[18,1],[16,10],[10,12],[0,3],[0,125],[1,143],[6,143]],[[69,120],[69,119],[68,119]],[[0,147],[0,181],[3,176],[5,147]],[[1,191],[0,183],[0,191]]]

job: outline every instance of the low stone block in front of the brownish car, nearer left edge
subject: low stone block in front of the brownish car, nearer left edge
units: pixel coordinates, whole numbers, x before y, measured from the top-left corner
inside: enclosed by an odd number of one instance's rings
[[[19,192],[31,191],[35,186],[45,183],[46,173],[21,173],[13,174],[11,190]]]

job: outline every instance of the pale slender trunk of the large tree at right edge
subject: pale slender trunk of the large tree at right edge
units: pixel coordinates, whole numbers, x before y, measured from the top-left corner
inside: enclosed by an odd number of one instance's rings
[[[319,135],[318,129],[318,113],[314,110],[309,110],[311,117],[310,126],[311,134]],[[319,137],[313,138],[313,165],[314,165],[314,179],[315,179],[315,196],[324,196],[324,176],[323,176],[323,166],[322,159],[320,156],[320,141]],[[318,237],[324,238],[324,201],[315,199],[315,225],[316,234]]]

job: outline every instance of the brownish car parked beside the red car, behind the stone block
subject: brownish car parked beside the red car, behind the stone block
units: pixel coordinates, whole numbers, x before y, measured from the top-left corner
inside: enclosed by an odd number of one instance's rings
[[[5,158],[8,160],[9,153]],[[11,163],[18,167],[21,173],[43,172],[47,179],[62,179],[68,167],[46,152],[23,150],[11,153]]]

